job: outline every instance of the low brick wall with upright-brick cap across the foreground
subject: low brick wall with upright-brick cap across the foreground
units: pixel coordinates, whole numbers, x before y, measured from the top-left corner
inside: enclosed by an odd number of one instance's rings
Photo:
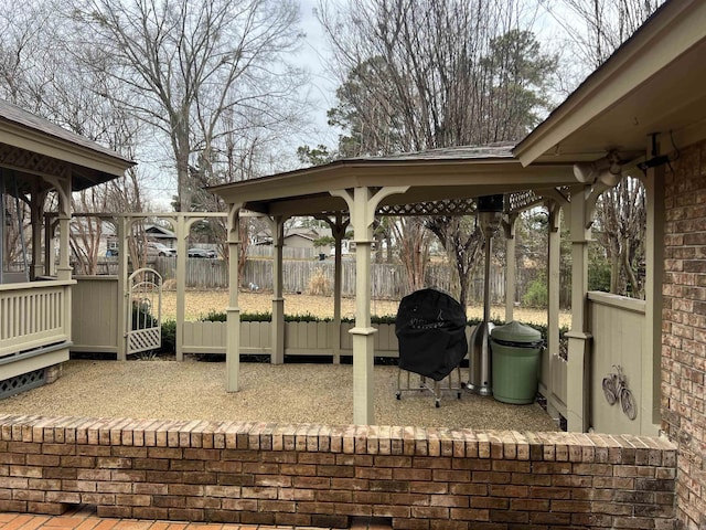
[[[346,528],[674,528],[666,439],[0,416],[0,510]]]

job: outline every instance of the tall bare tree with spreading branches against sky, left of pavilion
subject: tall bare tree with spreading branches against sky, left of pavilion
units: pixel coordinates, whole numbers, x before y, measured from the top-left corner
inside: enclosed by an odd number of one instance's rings
[[[169,142],[181,211],[192,208],[191,168],[212,173],[222,135],[249,126],[253,112],[263,127],[291,118],[274,105],[295,102],[301,82],[284,61],[299,36],[291,0],[85,0],[72,14],[105,54],[86,64],[127,88],[106,95]]]

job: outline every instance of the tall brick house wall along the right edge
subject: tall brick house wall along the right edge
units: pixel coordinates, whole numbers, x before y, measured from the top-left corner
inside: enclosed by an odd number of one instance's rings
[[[678,444],[678,528],[706,528],[706,142],[665,178],[662,430]]]

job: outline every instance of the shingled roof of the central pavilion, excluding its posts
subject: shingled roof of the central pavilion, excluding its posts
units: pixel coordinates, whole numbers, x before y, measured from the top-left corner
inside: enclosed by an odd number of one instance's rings
[[[385,197],[376,214],[439,213],[438,201],[458,201],[480,195],[525,192],[535,195],[575,184],[570,165],[538,163],[523,167],[513,157],[513,144],[462,146],[387,157],[347,158],[259,179],[211,188],[228,202],[271,216],[318,215],[349,210],[333,190],[404,187],[406,191]],[[526,194],[514,205],[524,206]],[[417,204],[404,212],[392,206]],[[458,212],[458,208],[450,213]]]

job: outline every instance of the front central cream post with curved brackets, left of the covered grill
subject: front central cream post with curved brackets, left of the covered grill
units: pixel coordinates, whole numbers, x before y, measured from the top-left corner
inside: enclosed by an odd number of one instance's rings
[[[373,380],[374,333],[371,326],[371,247],[375,211],[383,199],[404,193],[409,187],[382,188],[375,194],[368,188],[331,191],[343,198],[350,209],[355,237],[355,327],[353,336],[353,423],[375,423]]]

